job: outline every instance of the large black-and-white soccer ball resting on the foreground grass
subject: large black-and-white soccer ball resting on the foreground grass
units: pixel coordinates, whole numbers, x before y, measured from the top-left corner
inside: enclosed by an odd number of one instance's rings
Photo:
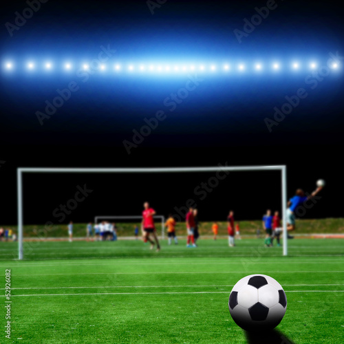
[[[272,330],[283,319],[287,297],[281,284],[266,275],[240,279],[229,295],[230,315],[246,331]]]

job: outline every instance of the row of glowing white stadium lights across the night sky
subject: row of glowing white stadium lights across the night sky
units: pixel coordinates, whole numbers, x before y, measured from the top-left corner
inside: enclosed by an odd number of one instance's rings
[[[11,70],[14,69],[14,64],[11,62],[8,62],[5,64],[6,69]],[[29,62],[26,67],[29,70],[34,70],[36,65],[33,62]],[[272,69],[274,70],[279,70],[281,68],[281,65],[279,63],[273,63],[272,64]],[[292,69],[299,69],[300,68],[300,64],[297,62],[292,63],[291,65]],[[317,65],[316,63],[312,62],[309,65],[310,69],[316,69]],[[332,69],[336,69],[338,67],[338,63],[334,62],[331,65]],[[47,62],[44,64],[44,68],[47,70],[53,69],[53,65],[50,62]],[[64,65],[64,68],[66,70],[70,70],[72,69],[72,64],[71,63],[66,63]],[[264,66],[261,63],[257,63],[255,65],[255,69],[257,71],[263,69]],[[89,69],[91,69],[91,67],[87,64],[82,65],[82,69],[87,71]],[[97,68],[95,69],[100,69],[101,71],[105,71],[105,69],[107,69],[106,65],[98,65]],[[136,70],[140,71],[140,72],[206,72],[207,70],[211,71],[211,72],[216,72],[217,70],[221,69],[221,67],[218,67],[217,65],[198,65],[197,67],[195,65],[127,65],[122,66],[120,64],[116,64],[114,65],[114,70],[117,72],[120,72],[121,70],[125,70],[127,69],[128,72],[134,72]],[[222,70],[224,70],[224,72],[229,72],[231,69],[231,66],[228,64],[225,64],[222,66]],[[239,64],[237,65],[237,70],[239,71],[244,71],[246,69],[246,65],[244,64]]]

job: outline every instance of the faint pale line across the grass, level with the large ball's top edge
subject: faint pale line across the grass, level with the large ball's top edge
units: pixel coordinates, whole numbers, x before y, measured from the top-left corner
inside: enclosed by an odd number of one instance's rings
[[[344,271],[268,271],[266,273],[343,273]],[[172,272],[78,272],[70,274],[12,274],[12,276],[76,276],[76,275],[170,275],[170,274],[247,274],[248,271],[172,271]],[[262,273],[262,272],[261,272]]]

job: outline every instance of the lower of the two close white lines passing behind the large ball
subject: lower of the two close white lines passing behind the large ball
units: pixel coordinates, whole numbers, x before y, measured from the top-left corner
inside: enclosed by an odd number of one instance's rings
[[[285,292],[344,292],[344,290],[285,290]],[[158,295],[158,294],[228,294],[228,292],[94,292],[80,294],[23,294],[12,297],[67,297],[79,295]],[[6,297],[6,295],[0,295]]]

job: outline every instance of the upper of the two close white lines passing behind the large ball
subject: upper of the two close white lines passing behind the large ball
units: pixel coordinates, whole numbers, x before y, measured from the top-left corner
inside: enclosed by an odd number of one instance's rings
[[[234,284],[226,284],[224,286],[92,286],[92,287],[28,287],[28,288],[12,288],[11,290],[45,290],[45,289],[91,289],[91,288],[221,288],[233,287]],[[314,287],[314,286],[344,286],[344,284],[283,284],[284,287]],[[1,290],[1,289],[0,289]],[[5,288],[2,288],[5,290]]]

